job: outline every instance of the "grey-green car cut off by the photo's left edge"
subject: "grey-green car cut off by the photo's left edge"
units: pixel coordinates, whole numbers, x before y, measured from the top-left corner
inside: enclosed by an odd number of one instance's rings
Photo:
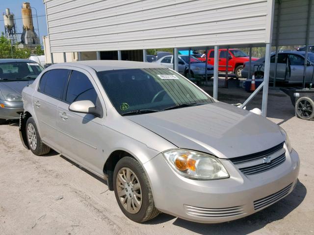
[[[20,118],[22,90],[43,70],[32,60],[0,59],[0,124],[6,119]]]

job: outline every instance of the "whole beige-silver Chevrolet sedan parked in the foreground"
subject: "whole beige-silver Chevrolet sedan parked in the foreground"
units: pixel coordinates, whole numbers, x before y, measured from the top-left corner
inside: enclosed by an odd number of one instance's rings
[[[217,223],[295,187],[300,160],[273,122],[218,102],[158,64],[55,64],[22,93],[23,144],[56,150],[107,180],[131,220],[165,212]]]

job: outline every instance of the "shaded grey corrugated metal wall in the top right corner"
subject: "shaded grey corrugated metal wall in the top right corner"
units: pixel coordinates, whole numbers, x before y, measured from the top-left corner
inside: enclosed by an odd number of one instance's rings
[[[281,2],[279,4],[279,2]],[[312,1],[312,4],[314,1]],[[280,7],[280,9],[278,9]],[[276,45],[305,45],[307,33],[307,17],[309,0],[276,0],[274,9],[273,42]],[[278,23],[278,14],[279,23]],[[312,6],[312,17],[310,18],[309,43],[314,44],[314,7]],[[277,25],[279,27],[277,29]],[[277,32],[277,30],[279,30]]]

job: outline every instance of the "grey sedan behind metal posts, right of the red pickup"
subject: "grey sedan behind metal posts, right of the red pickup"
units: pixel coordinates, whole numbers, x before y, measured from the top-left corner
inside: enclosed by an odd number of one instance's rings
[[[278,53],[276,82],[286,83],[303,83],[305,51],[282,51]],[[252,61],[251,74],[257,73],[263,76],[265,57]],[[261,65],[261,66],[259,66]],[[258,71],[259,70],[259,71]],[[275,53],[270,57],[269,81],[274,79],[275,71]],[[244,63],[242,77],[247,78],[249,73],[249,62]],[[308,61],[306,66],[306,83],[314,81],[314,53],[308,53]]]

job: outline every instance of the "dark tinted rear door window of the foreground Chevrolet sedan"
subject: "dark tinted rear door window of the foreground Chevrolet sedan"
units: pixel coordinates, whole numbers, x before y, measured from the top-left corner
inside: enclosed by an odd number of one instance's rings
[[[51,70],[47,77],[44,93],[61,99],[68,80],[69,70]]]

